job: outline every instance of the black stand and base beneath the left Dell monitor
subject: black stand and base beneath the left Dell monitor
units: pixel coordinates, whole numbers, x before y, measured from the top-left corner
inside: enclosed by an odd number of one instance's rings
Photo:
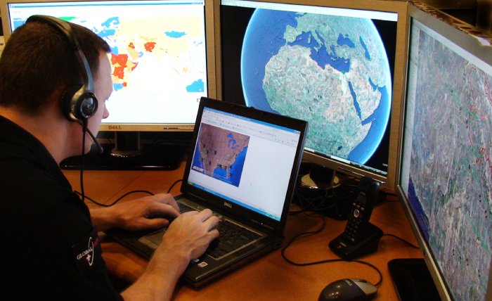
[[[84,169],[93,170],[171,170],[181,164],[186,147],[176,143],[142,144],[139,132],[115,132],[115,144],[94,144],[84,157]],[[60,163],[62,169],[80,169],[82,156]]]

